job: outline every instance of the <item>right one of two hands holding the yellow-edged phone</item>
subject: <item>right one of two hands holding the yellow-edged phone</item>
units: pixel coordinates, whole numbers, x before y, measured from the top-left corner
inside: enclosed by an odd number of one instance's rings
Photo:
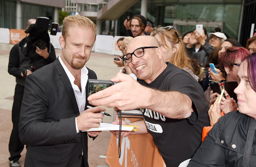
[[[230,98],[228,95],[227,91],[224,91],[225,97],[222,97],[222,101],[220,102],[220,108],[221,110],[227,114],[228,112],[231,111],[237,111],[237,103],[233,98]]]

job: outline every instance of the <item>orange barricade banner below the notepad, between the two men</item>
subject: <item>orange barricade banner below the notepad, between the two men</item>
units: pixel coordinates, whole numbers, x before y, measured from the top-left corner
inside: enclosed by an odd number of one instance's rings
[[[123,118],[123,120],[130,123],[141,119]],[[112,135],[106,162],[110,167],[165,167],[164,160],[149,133],[121,138],[120,158],[118,158],[118,139]]]

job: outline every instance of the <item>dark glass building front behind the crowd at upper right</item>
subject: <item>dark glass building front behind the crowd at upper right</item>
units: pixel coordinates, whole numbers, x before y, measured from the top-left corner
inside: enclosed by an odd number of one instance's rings
[[[207,33],[213,32],[215,27],[230,38],[237,39],[241,18],[242,0],[148,0],[147,20],[154,26],[174,25],[180,34],[194,31],[198,21],[209,23],[204,26]],[[119,35],[126,35],[123,21],[126,16],[140,14],[141,1],[128,9],[119,19]],[[184,24],[175,24],[175,22]],[[194,25],[186,25],[187,21]]]

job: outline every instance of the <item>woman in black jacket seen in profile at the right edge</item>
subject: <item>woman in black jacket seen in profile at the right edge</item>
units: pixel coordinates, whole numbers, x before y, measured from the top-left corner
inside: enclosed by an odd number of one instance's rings
[[[238,70],[239,111],[219,119],[198,148],[188,167],[254,167],[256,164],[256,54],[244,58]],[[216,99],[213,108],[220,113]]]

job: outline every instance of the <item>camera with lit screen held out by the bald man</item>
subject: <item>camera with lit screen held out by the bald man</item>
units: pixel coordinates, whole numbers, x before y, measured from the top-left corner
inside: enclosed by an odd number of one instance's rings
[[[110,87],[118,82],[112,82],[110,80],[97,80],[97,79],[88,79],[88,90],[87,95],[90,96],[93,93],[99,92],[107,87]]]

